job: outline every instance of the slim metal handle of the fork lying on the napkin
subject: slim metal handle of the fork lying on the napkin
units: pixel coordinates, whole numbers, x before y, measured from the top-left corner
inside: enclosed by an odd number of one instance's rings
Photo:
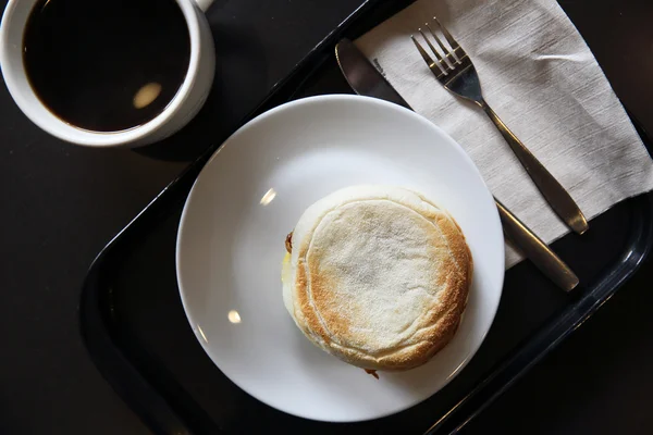
[[[478,104],[483,108],[494,125],[496,125],[496,128],[498,128],[504,139],[506,139],[510,149],[515,152],[515,156],[517,156],[517,159],[519,159],[521,165],[526,169],[526,172],[530,175],[535,183],[535,186],[538,186],[556,214],[576,233],[582,234],[588,231],[588,221],[576,201],[574,201],[574,198],[565,190],[563,185],[560,185],[538,158],[526,148],[521,140],[510,132],[507,125],[504,124],[492,108],[488,105],[485,100],[481,99]]]

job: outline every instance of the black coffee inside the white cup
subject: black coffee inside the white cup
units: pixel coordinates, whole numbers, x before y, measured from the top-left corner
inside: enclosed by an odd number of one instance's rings
[[[190,59],[174,0],[41,0],[23,45],[27,77],[44,104],[97,132],[132,128],[161,113]]]

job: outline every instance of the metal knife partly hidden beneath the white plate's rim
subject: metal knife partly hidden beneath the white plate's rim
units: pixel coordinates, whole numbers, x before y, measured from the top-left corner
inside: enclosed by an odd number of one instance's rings
[[[343,39],[335,46],[335,58],[356,94],[391,101],[412,110],[350,40]],[[505,236],[558,287],[566,291],[574,289],[578,285],[578,276],[574,271],[515,214],[496,198],[494,200]]]

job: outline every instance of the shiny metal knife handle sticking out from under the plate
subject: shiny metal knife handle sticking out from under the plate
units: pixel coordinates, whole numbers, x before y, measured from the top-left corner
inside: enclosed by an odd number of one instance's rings
[[[558,287],[572,290],[578,285],[578,276],[571,269],[496,198],[495,201],[506,237]]]

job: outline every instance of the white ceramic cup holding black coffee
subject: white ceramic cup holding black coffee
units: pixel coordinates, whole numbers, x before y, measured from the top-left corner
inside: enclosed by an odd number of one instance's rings
[[[190,35],[190,62],[186,78],[159,115],[143,125],[120,132],[89,132],[74,127],[50,112],[32,89],[23,65],[23,34],[37,1],[9,1],[0,25],[0,66],[9,92],[19,108],[44,130],[60,139],[89,147],[138,147],[172,135],[204,105],[215,73],[213,37],[204,13],[213,0],[175,0]]]

